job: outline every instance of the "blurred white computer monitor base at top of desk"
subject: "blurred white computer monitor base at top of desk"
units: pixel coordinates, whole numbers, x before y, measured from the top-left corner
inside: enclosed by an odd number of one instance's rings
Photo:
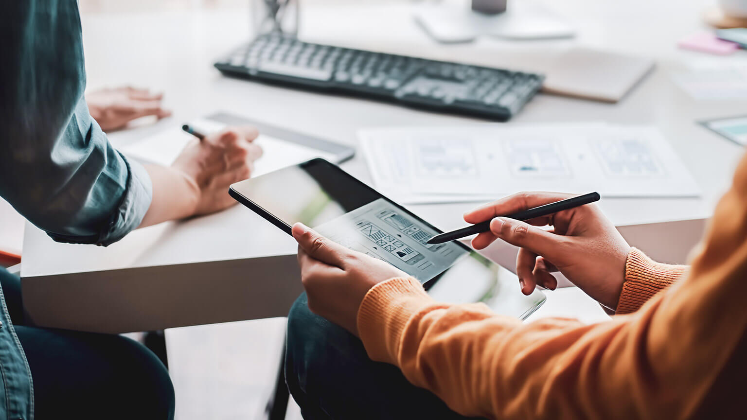
[[[489,15],[469,4],[428,4],[417,7],[415,22],[439,43],[466,43],[490,35],[509,40],[539,40],[574,36],[574,28],[535,1],[509,1],[506,11]]]

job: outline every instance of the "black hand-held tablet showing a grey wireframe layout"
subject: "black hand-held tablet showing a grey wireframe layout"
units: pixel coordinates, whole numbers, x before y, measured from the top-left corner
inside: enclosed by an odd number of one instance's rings
[[[524,296],[515,276],[459,241],[427,244],[441,230],[322,158],[237,182],[229,194],[289,235],[302,222],[394,265],[438,300],[481,301],[517,318],[545,301],[541,291]]]

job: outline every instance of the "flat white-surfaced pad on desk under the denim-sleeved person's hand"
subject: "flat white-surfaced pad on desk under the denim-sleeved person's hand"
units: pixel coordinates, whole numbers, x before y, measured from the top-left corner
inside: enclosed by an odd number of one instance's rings
[[[254,143],[261,146],[263,153],[261,158],[255,161],[252,176],[259,176],[311,158],[325,158],[339,164],[352,158],[356,152],[351,146],[233,114],[212,114],[191,120],[189,124],[204,133],[216,132],[226,126],[255,126],[259,131],[259,137],[254,140]],[[128,144],[120,150],[138,161],[170,166],[187,143],[192,140],[194,140],[192,135],[183,132],[180,126],[174,126],[172,129]]]

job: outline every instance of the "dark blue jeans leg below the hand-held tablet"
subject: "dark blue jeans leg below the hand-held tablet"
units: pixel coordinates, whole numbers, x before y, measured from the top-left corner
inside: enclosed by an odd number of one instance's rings
[[[306,420],[465,419],[399,368],[369,359],[356,336],[309,311],[306,294],[288,315],[285,381]]]

